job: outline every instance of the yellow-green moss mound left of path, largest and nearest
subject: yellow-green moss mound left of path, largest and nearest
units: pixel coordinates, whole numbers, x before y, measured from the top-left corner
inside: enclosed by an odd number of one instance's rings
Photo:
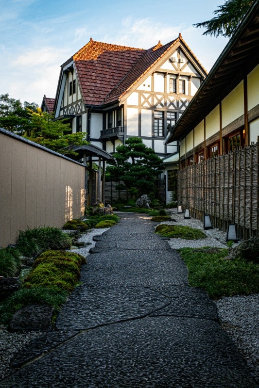
[[[24,280],[25,288],[46,287],[70,292],[80,276],[81,255],[67,251],[46,251],[35,260],[32,271]]]

